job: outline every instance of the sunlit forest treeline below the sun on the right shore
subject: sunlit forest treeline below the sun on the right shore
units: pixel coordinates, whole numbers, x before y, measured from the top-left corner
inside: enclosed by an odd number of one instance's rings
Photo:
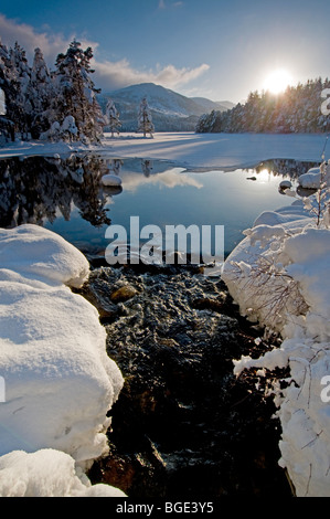
[[[321,78],[289,86],[283,94],[252,92],[245,104],[226,112],[202,115],[196,133],[324,133],[330,130],[329,116],[322,114],[322,91],[330,81]]]

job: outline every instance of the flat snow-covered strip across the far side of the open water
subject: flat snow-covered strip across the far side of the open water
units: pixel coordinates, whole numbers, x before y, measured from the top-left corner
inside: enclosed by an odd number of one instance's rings
[[[189,168],[233,170],[275,158],[318,161],[324,142],[323,135],[166,133],[155,134],[150,139],[140,134],[120,134],[114,138],[105,134],[100,147],[36,141],[8,144],[0,148],[0,158],[95,150],[113,157],[170,160]]]

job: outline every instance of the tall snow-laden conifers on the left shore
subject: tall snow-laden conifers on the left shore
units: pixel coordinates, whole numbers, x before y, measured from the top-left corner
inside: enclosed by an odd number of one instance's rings
[[[98,141],[107,120],[96,99],[100,91],[91,77],[92,57],[92,49],[84,51],[74,40],[65,54],[57,55],[51,72],[40,49],[30,66],[18,43],[7,49],[0,42],[0,88],[6,103],[6,116],[0,117],[2,137]]]

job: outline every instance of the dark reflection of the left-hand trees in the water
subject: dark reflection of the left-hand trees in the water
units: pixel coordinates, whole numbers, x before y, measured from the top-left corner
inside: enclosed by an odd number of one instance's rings
[[[92,155],[0,160],[0,226],[43,225],[57,215],[68,221],[73,205],[93,226],[109,224],[111,191],[100,183],[108,171],[107,160]]]

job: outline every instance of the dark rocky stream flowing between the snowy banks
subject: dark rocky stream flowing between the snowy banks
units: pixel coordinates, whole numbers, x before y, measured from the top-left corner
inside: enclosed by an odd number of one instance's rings
[[[270,348],[220,278],[199,267],[97,267],[81,293],[125,377],[110,453],[91,469],[136,499],[290,496],[272,398],[233,359]]]

